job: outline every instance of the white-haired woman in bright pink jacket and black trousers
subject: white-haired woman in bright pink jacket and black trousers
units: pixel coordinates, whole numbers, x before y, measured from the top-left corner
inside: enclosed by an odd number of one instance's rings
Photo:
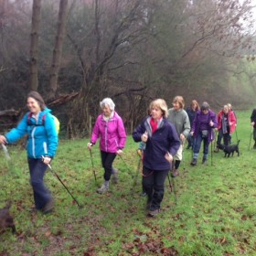
[[[112,174],[116,178],[117,170],[112,167],[112,162],[116,155],[123,154],[123,148],[126,142],[126,133],[123,126],[123,120],[114,111],[114,102],[110,98],[105,98],[100,103],[102,113],[98,116],[91,134],[91,142],[88,148],[91,150],[93,144],[96,144],[100,138],[101,162],[104,168],[104,182],[97,189],[97,192],[103,194],[109,190],[109,183]]]

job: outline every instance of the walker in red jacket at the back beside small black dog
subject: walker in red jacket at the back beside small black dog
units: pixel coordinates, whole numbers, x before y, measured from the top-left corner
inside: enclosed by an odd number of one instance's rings
[[[230,136],[236,129],[236,117],[234,112],[229,111],[228,105],[224,105],[218,114],[218,139],[214,152],[219,152],[219,144],[223,137],[224,144],[230,144]]]

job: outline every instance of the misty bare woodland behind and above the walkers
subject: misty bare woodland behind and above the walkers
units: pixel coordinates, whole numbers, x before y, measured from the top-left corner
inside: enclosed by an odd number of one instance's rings
[[[0,132],[39,91],[66,137],[88,136],[111,97],[127,132],[150,101],[255,101],[250,0],[0,0]]]

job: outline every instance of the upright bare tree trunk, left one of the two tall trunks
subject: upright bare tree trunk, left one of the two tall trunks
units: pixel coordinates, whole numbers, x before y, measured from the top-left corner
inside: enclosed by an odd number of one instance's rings
[[[29,89],[37,91],[38,73],[37,73],[37,56],[38,56],[38,34],[40,25],[41,0],[33,1],[32,25],[30,34],[30,80]]]

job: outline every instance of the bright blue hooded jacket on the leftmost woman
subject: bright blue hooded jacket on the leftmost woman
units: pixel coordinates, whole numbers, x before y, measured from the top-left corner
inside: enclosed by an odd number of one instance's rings
[[[17,127],[5,134],[8,144],[15,143],[27,134],[27,156],[29,158],[41,158],[42,156],[54,157],[59,139],[54,123],[54,117],[48,108],[39,112],[38,119],[27,112],[18,123]],[[43,122],[43,116],[45,121]]]

